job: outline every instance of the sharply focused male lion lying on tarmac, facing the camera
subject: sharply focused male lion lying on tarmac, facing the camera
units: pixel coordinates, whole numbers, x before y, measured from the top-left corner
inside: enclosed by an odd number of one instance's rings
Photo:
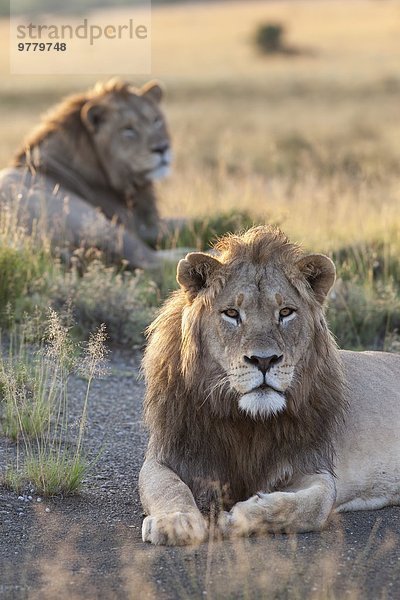
[[[143,540],[318,531],[399,504],[400,356],[338,350],[332,260],[255,227],[177,280],[143,359]]]

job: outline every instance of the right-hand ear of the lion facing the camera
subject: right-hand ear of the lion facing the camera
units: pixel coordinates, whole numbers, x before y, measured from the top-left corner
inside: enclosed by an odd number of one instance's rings
[[[336,268],[333,261],[323,254],[303,256],[297,267],[311,286],[318,302],[323,304],[335,283]]]

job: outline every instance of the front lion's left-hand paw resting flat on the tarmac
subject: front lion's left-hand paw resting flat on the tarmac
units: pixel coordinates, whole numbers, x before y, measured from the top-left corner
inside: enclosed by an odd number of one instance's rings
[[[160,546],[201,544],[207,539],[208,528],[201,514],[174,512],[149,516],[143,521],[144,542]]]

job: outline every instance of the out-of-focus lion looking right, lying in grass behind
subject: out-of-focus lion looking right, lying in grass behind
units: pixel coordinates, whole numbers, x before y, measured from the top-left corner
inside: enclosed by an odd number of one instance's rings
[[[112,79],[64,99],[0,174],[3,210],[44,230],[53,246],[97,246],[133,267],[157,265],[153,182],[168,174],[170,137],[162,88]]]

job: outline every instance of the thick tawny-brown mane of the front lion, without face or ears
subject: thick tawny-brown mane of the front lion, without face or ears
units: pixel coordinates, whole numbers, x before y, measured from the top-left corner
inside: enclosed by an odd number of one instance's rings
[[[342,367],[323,307],[296,270],[300,249],[279,230],[262,227],[225,237],[216,250],[223,267],[206,274],[199,293],[181,289],[166,302],[148,330],[143,361],[148,455],[178,474],[205,509],[279,489],[293,473],[333,473],[332,440],[346,411]],[[286,410],[253,419],[239,410],[238,394],[208,355],[204,336],[213,335],[207,311],[214,297],[246,265],[266,263],[282,269],[303,296],[314,343],[296,367]]]

